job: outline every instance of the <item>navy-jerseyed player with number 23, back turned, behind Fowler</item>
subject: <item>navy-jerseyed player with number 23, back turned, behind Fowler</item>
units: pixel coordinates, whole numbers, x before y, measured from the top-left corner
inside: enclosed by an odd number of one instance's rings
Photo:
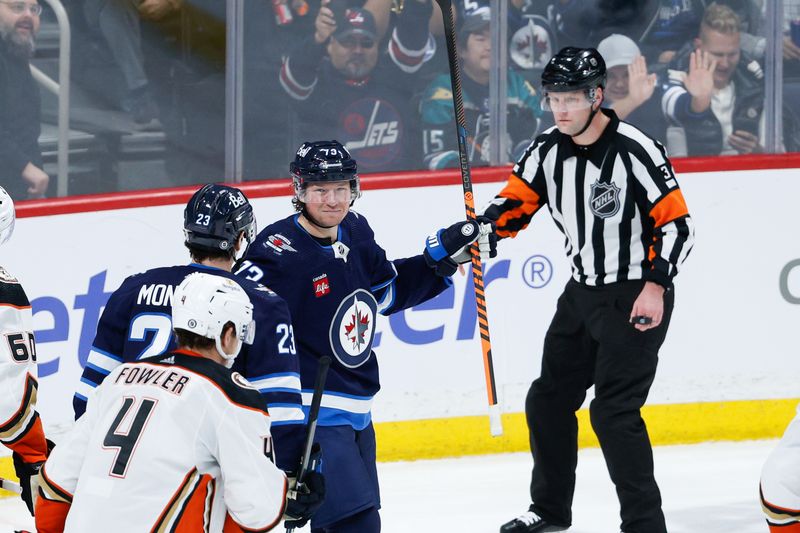
[[[184,234],[191,264],[130,276],[106,303],[73,400],[76,418],[114,368],[175,347],[170,313],[175,287],[192,272],[234,277],[230,271],[237,254],[241,256],[255,238],[253,208],[239,189],[206,185],[186,204]],[[238,281],[253,302],[258,326],[252,346],[244,347],[234,370],[250,380],[266,400],[276,463],[284,470],[294,469],[305,432],[289,310],[281,297],[260,283]]]

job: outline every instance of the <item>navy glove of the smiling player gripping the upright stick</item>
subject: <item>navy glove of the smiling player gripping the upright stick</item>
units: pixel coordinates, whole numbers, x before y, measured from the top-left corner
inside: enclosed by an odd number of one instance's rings
[[[425,262],[440,276],[452,276],[458,265],[471,260],[470,245],[478,241],[481,259],[497,255],[497,235],[494,225],[486,217],[477,221],[456,222],[446,229],[440,229],[425,242]]]

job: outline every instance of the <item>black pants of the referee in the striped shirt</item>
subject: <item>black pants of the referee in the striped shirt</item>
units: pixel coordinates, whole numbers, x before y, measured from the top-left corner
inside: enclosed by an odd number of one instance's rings
[[[640,332],[629,323],[644,281],[588,287],[570,280],[544,341],[541,376],[525,413],[533,453],[531,510],[555,525],[572,523],[578,463],[575,412],[595,386],[589,412],[620,501],[625,533],[666,533],[653,451],[639,409],[656,373],[674,302],[664,294],[664,318]]]

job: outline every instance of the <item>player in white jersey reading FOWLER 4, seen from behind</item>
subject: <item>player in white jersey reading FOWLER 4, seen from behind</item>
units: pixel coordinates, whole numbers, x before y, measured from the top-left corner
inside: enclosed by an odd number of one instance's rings
[[[316,472],[287,501],[264,401],[229,370],[254,336],[247,293],[190,274],[172,321],[178,349],[115,368],[42,467],[40,533],[270,531],[320,505]]]

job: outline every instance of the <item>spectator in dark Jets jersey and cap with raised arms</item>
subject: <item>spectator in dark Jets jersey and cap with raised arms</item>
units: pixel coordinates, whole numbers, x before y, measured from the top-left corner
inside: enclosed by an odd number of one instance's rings
[[[280,82],[294,102],[300,132],[337,138],[363,171],[421,166],[419,121],[412,105],[426,60],[432,0],[406,0],[387,48],[375,17],[323,2],[314,32],[288,54]]]

